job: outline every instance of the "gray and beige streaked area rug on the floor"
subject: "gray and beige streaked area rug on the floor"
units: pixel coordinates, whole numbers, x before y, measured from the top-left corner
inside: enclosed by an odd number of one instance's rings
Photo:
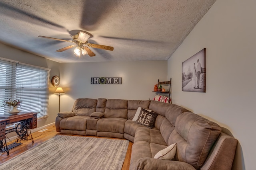
[[[56,135],[0,164],[0,170],[121,170],[129,141]]]

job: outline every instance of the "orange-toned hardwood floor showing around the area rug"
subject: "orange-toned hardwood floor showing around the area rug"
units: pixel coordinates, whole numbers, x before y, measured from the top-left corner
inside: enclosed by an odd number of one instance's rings
[[[38,132],[37,131],[37,132],[32,133],[34,143],[32,143],[31,140],[22,141],[21,142],[22,145],[19,145],[18,147],[15,147],[15,148],[9,150],[9,155],[8,156],[7,156],[7,152],[2,152],[2,153],[0,152],[0,163],[3,163],[5,161],[13,158],[14,156],[17,156],[18,154],[21,154],[22,152],[24,152],[24,151],[26,151],[30,148],[36,147],[38,144],[40,144],[44,141],[47,141],[48,139],[54,137],[57,134],[62,135],[62,134],[56,132],[55,125],[49,126],[49,127],[46,127],[46,128],[48,130],[43,131],[43,132]],[[72,136],[79,136],[79,135],[72,135]],[[94,137],[94,136],[90,136],[90,137]],[[112,138],[112,139],[114,139],[114,138]],[[14,141],[11,141],[11,142],[9,141],[8,142],[7,138],[6,138],[6,142],[7,142],[7,145],[10,145],[11,143],[14,143]],[[129,142],[129,146],[128,146],[128,150],[126,152],[126,157],[124,159],[124,164],[122,166],[122,170],[128,170],[129,169],[131,153],[132,153],[132,142]]]

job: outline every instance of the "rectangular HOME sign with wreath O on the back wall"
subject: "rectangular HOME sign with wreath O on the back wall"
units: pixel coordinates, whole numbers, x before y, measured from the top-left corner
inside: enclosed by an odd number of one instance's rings
[[[91,77],[91,84],[122,84],[122,77]]]

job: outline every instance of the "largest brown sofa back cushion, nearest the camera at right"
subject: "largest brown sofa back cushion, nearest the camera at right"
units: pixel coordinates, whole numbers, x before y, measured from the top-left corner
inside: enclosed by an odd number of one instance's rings
[[[190,111],[178,115],[168,145],[177,143],[175,160],[199,169],[221,133],[221,127]]]

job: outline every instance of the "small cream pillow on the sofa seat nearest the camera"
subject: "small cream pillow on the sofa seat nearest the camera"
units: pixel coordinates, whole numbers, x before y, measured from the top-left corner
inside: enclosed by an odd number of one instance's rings
[[[155,159],[172,160],[176,154],[177,143],[174,143],[167,148],[160,150],[154,156]]]

